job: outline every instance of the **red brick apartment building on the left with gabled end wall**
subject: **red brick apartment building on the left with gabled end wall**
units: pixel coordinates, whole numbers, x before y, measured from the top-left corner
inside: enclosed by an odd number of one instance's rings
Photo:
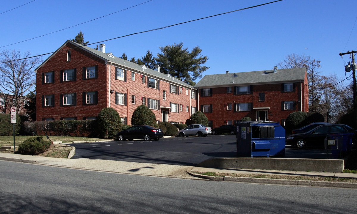
[[[95,119],[112,107],[123,124],[148,106],[158,122],[185,123],[196,109],[196,88],[112,53],[66,41],[36,70],[36,119]]]

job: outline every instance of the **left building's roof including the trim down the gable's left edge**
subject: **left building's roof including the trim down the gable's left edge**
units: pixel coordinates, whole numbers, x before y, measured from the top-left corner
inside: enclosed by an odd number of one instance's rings
[[[130,70],[134,71],[134,72],[138,72],[138,73],[141,73],[143,75],[147,75],[147,76],[151,76],[151,77],[156,77],[156,78],[159,78],[161,80],[165,80],[167,82],[170,82],[172,84],[175,84],[175,85],[181,85],[181,86],[184,86],[186,88],[190,88],[192,90],[196,90],[196,88],[194,88],[193,86],[181,81],[181,80],[178,80],[177,78],[174,78],[174,77],[171,77],[170,75],[168,74],[165,74],[165,73],[161,73],[161,72],[158,72],[158,71],[155,71],[155,70],[152,70],[152,69],[148,69],[146,68],[145,65],[138,65],[136,63],[133,63],[133,62],[130,62],[130,61],[127,61],[127,60],[124,60],[120,57],[116,57],[114,56],[112,53],[103,53],[99,50],[95,50],[91,47],[87,47],[87,46],[82,46],[81,44],[78,44],[74,41],[71,41],[71,40],[67,40],[65,42],[65,44],[63,44],[59,49],[57,49],[56,52],[58,52],[59,50],[61,50],[67,43],[71,43],[79,48],[81,48],[82,50],[86,50],[88,52],[91,52],[93,55],[101,58],[102,60],[105,61],[105,63],[108,63],[108,62],[112,62],[118,66],[122,66],[122,67],[126,67],[126,68],[129,68]],[[52,56],[54,56],[56,54],[56,52],[54,52],[49,58],[47,58],[39,67],[36,68],[35,72],[37,73],[37,70],[39,70],[40,67],[42,67],[42,65],[44,65]]]

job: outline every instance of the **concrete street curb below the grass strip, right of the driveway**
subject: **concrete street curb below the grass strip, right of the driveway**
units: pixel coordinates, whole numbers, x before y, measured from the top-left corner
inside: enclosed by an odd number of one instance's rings
[[[290,180],[290,179],[274,179],[274,178],[249,178],[249,177],[233,177],[233,176],[220,177],[220,176],[196,174],[193,172],[187,172],[187,174],[196,178],[203,178],[212,181],[357,189],[357,183],[347,183],[347,182],[329,182],[329,181],[294,180],[294,179]]]

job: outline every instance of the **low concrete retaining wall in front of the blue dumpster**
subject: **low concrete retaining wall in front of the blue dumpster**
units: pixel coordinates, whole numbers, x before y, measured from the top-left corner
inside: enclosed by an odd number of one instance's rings
[[[197,167],[227,169],[265,169],[313,172],[342,172],[344,160],[300,158],[212,158]]]

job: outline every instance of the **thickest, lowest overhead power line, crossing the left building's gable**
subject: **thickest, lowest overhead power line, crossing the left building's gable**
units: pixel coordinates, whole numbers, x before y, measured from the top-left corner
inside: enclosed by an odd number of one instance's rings
[[[141,32],[132,33],[132,34],[127,34],[127,35],[125,35],[125,36],[119,36],[119,37],[115,37],[115,38],[112,38],[112,39],[107,39],[107,40],[103,40],[103,41],[99,41],[99,42],[94,42],[94,43],[87,44],[87,45],[82,45],[82,46],[94,45],[94,44],[97,44],[97,43],[102,43],[102,42],[106,42],[106,41],[110,41],[110,40],[120,39],[120,38],[127,37],[127,36],[132,36],[132,35],[136,35],[136,34],[142,34],[142,33],[151,32],[151,31],[156,31],[156,30],[161,30],[161,29],[165,29],[165,28],[168,28],[168,27],[173,27],[173,26],[176,26],[176,25],[182,25],[182,24],[186,24],[186,23],[189,23],[189,22],[193,22],[193,21],[198,21],[198,20],[202,20],[202,19],[208,19],[208,18],[211,18],[211,17],[215,17],[215,16],[220,16],[220,15],[229,14],[229,13],[232,13],[232,12],[237,12],[237,11],[252,9],[252,8],[254,8],[254,7],[260,7],[260,6],[267,5],[267,4],[272,4],[272,3],[275,3],[275,2],[278,2],[278,1],[283,1],[283,0],[272,1],[272,2],[265,3],[265,4],[260,4],[260,5],[255,5],[255,6],[251,6],[251,7],[246,7],[246,8],[239,9],[239,10],[233,10],[233,11],[229,11],[229,12],[224,12],[224,13],[221,13],[221,14],[216,14],[216,15],[212,15],[212,16],[207,16],[207,17],[203,17],[203,18],[199,18],[199,19],[194,19],[194,20],[191,20],[191,21],[185,21],[185,22],[181,22],[181,23],[178,23],[178,24],[174,24],[174,25],[169,25],[169,26],[165,26],[165,27],[159,27],[159,28],[152,29],[152,30],[146,30],[146,31],[141,31]],[[82,46],[79,46],[79,47],[82,47]],[[77,48],[77,47],[75,47],[75,48]],[[55,53],[55,52],[56,52],[56,51],[50,52],[50,53],[47,53],[47,54],[53,54],[53,53]],[[16,59],[16,60],[10,60],[10,61],[1,62],[1,63],[13,62],[13,61],[17,61],[17,60],[25,60],[25,59],[27,59],[27,58],[34,58],[34,57],[44,56],[44,55],[47,55],[47,54],[40,54],[40,55],[36,55],[36,56],[30,56],[30,57],[26,57],[26,58],[21,58],[21,59]]]

